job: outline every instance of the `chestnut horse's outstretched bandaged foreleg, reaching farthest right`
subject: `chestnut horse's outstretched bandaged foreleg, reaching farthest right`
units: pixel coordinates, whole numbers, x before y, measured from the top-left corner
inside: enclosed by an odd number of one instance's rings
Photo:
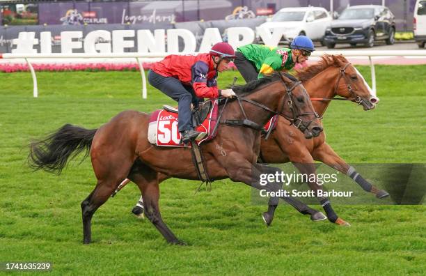
[[[363,190],[365,190],[365,192],[371,192],[379,199],[388,197],[388,192],[380,190],[365,180],[361,174],[358,174],[354,167],[349,166],[345,160],[340,158],[340,156],[335,151],[333,151],[333,148],[331,148],[331,146],[328,144],[324,143],[321,146],[315,148],[312,155],[315,160],[321,161],[329,167],[336,169],[342,174],[346,174],[352,178],[358,185],[360,185],[361,188],[363,188]]]

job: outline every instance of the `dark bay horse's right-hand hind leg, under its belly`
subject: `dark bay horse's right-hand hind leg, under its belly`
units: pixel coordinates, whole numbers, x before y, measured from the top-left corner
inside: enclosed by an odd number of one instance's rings
[[[161,218],[159,210],[159,181],[157,173],[143,164],[138,173],[131,174],[129,179],[136,183],[141,190],[143,197],[143,207],[145,216],[154,224],[155,228],[164,236],[168,243],[175,245],[185,245],[176,238],[175,234],[168,229],[166,223]]]

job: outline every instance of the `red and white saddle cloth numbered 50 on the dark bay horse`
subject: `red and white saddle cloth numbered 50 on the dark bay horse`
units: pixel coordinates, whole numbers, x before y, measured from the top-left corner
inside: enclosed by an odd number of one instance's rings
[[[203,141],[210,141],[216,136],[213,130],[217,123],[218,114],[219,102],[214,100],[206,118],[196,127],[197,131],[204,133],[204,135],[197,137],[196,143],[198,145],[203,143]],[[184,147],[184,144],[179,144],[178,112],[172,111],[170,107],[152,112],[148,126],[148,141],[157,146]]]

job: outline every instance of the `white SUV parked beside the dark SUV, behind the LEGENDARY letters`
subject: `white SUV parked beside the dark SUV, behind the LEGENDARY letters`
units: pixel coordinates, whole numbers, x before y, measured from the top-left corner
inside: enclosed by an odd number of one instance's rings
[[[308,36],[308,38],[322,43],[326,28],[333,18],[325,8],[301,7],[282,8],[269,22],[265,22],[258,28],[266,28],[272,31],[275,28],[283,29],[285,42],[296,36]],[[261,41],[259,41],[261,43]]]

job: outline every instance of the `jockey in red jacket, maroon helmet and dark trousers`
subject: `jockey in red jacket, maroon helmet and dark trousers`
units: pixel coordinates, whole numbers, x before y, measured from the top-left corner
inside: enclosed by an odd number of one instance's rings
[[[235,95],[232,89],[217,89],[218,72],[227,70],[234,58],[231,45],[217,43],[209,54],[166,56],[148,72],[148,82],[178,102],[178,128],[184,143],[200,134],[191,123],[191,102],[196,106],[199,98]]]

